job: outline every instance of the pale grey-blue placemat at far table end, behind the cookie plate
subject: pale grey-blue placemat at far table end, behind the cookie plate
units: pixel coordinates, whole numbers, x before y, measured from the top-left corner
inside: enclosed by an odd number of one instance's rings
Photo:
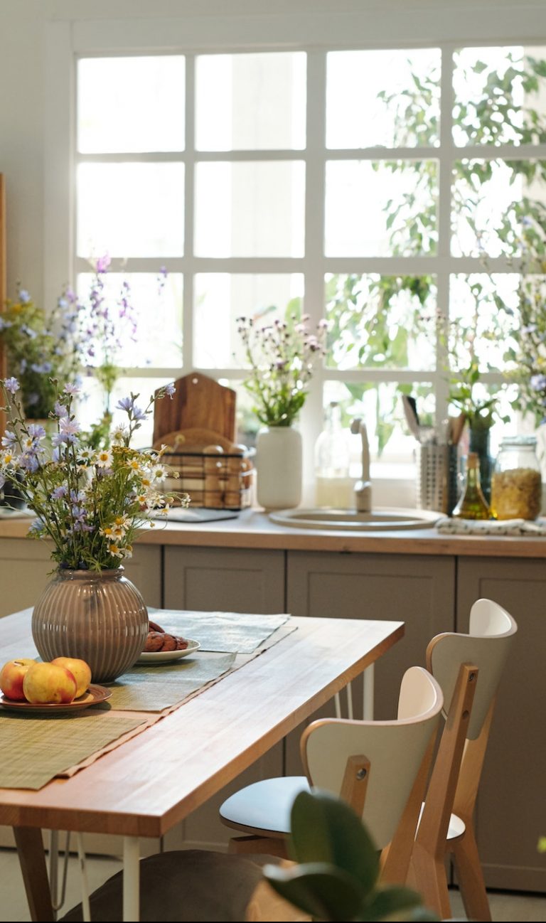
[[[274,631],[288,621],[286,614],[258,616],[242,612],[190,612],[148,609],[161,628],[199,641],[202,651],[253,653]]]

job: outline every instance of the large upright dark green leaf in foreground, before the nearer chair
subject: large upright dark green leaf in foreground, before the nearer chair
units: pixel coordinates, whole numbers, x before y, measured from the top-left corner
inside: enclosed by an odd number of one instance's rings
[[[291,809],[291,854],[300,863],[326,862],[356,879],[362,898],[379,874],[379,855],[362,821],[328,792],[300,792]]]

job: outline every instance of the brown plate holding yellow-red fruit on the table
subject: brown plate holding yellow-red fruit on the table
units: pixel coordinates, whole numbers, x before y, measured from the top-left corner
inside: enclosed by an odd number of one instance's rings
[[[91,670],[77,657],[52,661],[19,657],[0,670],[0,705],[33,712],[72,711],[88,708],[112,695],[109,689],[91,685]]]

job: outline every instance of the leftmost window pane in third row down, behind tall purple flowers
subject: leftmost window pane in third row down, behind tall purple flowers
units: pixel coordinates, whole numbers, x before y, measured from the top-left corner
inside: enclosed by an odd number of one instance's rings
[[[77,278],[77,294],[89,303],[89,292],[94,281],[91,273],[81,273]],[[129,287],[124,289],[124,283]],[[115,323],[119,347],[114,361],[126,367],[154,366],[176,368],[182,366],[182,275],[160,272],[121,273],[109,272],[104,277],[103,306]],[[128,302],[128,310],[121,299]],[[132,324],[136,323],[136,330]],[[100,365],[103,343],[95,344],[93,365]]]

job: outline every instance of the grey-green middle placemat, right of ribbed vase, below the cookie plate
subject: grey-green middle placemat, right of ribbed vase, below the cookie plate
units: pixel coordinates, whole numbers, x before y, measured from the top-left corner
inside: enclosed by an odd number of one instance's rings
[[[133,666],[108,684],[111,708],[132,712],[162,712],[231,670],[234,653],[185,658],[173,664]]]

